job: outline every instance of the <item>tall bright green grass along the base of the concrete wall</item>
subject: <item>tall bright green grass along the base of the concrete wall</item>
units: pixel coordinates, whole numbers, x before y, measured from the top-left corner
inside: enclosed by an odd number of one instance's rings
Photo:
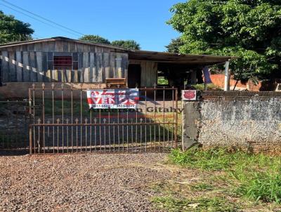
[[[202,150],[192,147],[170,154],[174,164],[203,171],[223,171],[239,197],[254,201],[281,202],[281,158],[223,148]]]

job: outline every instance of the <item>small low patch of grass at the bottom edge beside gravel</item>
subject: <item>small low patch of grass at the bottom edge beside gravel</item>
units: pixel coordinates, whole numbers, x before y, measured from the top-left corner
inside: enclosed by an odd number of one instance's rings
[[[164,208],[166,211],[218,211],[218,212],[235,212],[238,210],[237,204],[230,203],[223,197],[200,197],[193,199],[177,199],[171,196],[155,197],[152,202],[157,207]]]

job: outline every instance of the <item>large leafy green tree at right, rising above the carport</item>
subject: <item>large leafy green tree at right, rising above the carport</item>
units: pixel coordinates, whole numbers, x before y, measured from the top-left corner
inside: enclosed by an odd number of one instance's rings
[[[280,74],[280,0],[190,0],[171,13],[181,53],[238,56],[230,65],[236,79]]]

